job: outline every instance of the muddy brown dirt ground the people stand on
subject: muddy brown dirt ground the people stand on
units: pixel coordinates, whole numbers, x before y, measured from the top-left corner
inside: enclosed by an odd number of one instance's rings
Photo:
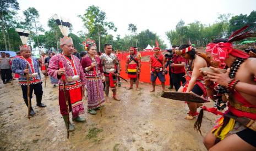
[[[74,123],[76,130],[68,140],[58,88],[49,80],[42,100],[47,107],[36,107],[34,96],[36,115],[30,120],[17,80],[13,85],[0,84],[0,150],[206,150],[203,136],[217,119],[205,112],[201,136],[193,129],[195,120],[184,119],[188,112],[184,102],[160,97],[160,86],[150,93],[150,84],[140,84],[140,91],[135,91],[126,90],[128,83],[122,83],[117,90],[122,101],[110,98],[102,117],[99,111],[83,114],[86,123]]]

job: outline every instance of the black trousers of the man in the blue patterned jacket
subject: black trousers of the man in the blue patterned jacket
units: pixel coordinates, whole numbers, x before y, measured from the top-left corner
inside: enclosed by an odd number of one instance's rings
[[[21,85],[21,89],[22,89],[22,94],[23,94],[23,98],[25,103],[28,103],[28,86],[26,85]],[[37,83],[37,84],[31,84],[30,85],[30,100],[32,98],[32,92],[34,90],[34,94],[36,95],[36,97],[42,97],[43,91],[42,91],[42,83]],[[36,99],[36,103],[40,104],[41,103],[41,99]]]

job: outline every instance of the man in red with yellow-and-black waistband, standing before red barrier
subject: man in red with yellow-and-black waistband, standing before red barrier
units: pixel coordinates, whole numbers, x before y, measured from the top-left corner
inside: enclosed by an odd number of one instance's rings
[[[137,54],[135,47],[130,47],[130,55],[126,57],[126,73],[130,78],[130,88],[133,89],[133,82],[136,83],[136,90],[139,88],[139,73],[140,73],[140,56]]]

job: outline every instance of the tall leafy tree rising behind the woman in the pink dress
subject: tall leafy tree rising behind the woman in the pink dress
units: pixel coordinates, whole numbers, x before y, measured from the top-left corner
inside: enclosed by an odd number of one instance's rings
[[[107,35],[107,30],[117,30],[114,23],[106,21],[106,13],[95,5],[89,6],[88,9],[86,9],[85,14],[78,16],[82,19],[85,28],[89,31],[88,38],[97,41],[99,51],[101,51],[100,38]]]

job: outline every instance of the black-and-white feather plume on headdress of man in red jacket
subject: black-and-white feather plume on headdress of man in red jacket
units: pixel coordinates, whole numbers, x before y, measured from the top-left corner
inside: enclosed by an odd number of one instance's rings
[[[56,24],[58,25],[59,29],[61,30],[61,33],[63,36],[68,37],[69,34],[69,28],[71,26],[69,20],[63,17],[58,17],[57,14],[53,15],[52,18],[56,21]]]

